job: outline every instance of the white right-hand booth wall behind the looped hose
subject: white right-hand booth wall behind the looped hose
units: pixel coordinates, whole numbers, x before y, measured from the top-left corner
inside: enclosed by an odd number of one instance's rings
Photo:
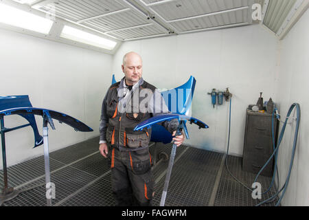
[[[279,45],[280,68],[277,80],[277,102],[282,120],[285,120],[290,105],[298,102],[301,107],[301,122],[295,151],[295,159],[288,189],[282,206],[309,206],[309,12],[301,17],[284,41]],[[291,114],[296,117],[296,111]],[[293,147],[295,120],[286,125],[286,132],[279,148],[279,186],[283,186]],[[280,129],[282,123],[280,123]]]

